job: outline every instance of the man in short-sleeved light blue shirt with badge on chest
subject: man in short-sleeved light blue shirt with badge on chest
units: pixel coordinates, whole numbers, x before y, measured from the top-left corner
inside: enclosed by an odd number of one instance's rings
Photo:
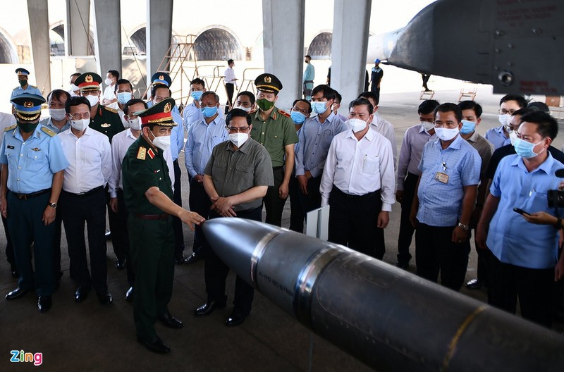
[[[416,228],[417,275],[458,291],[470,253],[470,217],[482,159],[460,137],[462,111],[456,104],[435,109],[436,140],[425,144],[410,219]]]

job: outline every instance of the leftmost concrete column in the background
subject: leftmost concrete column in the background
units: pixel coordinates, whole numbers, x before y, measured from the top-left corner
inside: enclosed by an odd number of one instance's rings
[[[51,92],[51,43],[47,0],[27,0],[35,82],[43,96]]]

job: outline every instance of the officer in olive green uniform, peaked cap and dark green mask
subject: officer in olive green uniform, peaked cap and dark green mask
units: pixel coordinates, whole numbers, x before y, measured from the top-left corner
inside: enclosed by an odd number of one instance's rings
[[[294,144],[298,142],[298,135],[290,115],[274,106],[278,92],[282,89],[278,77],[269,73],[261,74],[255,79],[255,86],[259,110],[251,114],[251,138],[269,151],[274,173],[274,187],[269,187],[263,199],[265,222],[280,226],[294,167]]]

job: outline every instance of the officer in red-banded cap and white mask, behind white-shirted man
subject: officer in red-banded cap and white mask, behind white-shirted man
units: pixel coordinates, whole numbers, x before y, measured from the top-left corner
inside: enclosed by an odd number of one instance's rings
[[[114,135],[125,128],[116,109],[100,104],[100,84],[102,77],[97,73],[83,73],[75,80],[82,97],[90,101],[90,128],[108,136],[111,143]]]

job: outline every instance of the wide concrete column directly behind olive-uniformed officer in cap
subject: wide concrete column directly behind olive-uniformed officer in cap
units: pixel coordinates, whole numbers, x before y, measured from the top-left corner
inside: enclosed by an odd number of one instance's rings
[[[305,0],[262,0],[264,72],[280,79],[276,106],[289,109],[302,97]]]

